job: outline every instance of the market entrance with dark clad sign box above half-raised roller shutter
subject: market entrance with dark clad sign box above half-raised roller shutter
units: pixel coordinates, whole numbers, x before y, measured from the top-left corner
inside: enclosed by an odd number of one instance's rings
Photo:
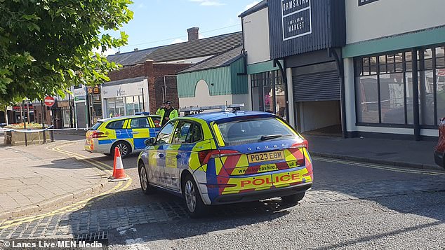
[[[345,133],[341,91],[345,2],[269,1],[268,6],[270,58],[281,73],[274,87],[275,112],[281,112],[278,105],[287,104],[289,116],[295,117],[291,125],[300,132]],[[277,93],[287,95],[288,102]]]

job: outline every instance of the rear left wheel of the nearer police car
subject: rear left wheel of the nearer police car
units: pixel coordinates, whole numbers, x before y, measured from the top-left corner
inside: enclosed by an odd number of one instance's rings
[[[182,183],[182,196],[185,201],[185,209],[192,218],[201,218],[208,212],[208,207],[202,202],[201,195],[193,177],[188,174]]]

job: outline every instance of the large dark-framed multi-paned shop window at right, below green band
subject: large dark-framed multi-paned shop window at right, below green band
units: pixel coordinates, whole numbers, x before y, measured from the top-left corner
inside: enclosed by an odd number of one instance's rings
[[[423,126],[435,126],[445,116],[444,52],[445,46],[416,52],[419,96],[416,102]],[[413,125],[412,58],[407,50],[354,60],[357,123]]]

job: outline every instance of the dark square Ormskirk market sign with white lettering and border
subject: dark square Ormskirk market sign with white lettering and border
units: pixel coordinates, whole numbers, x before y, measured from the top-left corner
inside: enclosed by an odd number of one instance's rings
[[[283,41],[312,33],[311,0],[281,0]]]

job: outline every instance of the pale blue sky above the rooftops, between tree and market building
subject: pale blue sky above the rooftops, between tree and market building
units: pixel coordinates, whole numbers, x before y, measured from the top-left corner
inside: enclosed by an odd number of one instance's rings
[[[133,20],[121,28],[128,45],[121,53],[187,41],[187,29],[199,27],[200,39],[241,31],[238,15],[260,0],[133,0]],[[119,32],[109,32],[119,36]],[[108,50],[107,55],[118,49]]]

